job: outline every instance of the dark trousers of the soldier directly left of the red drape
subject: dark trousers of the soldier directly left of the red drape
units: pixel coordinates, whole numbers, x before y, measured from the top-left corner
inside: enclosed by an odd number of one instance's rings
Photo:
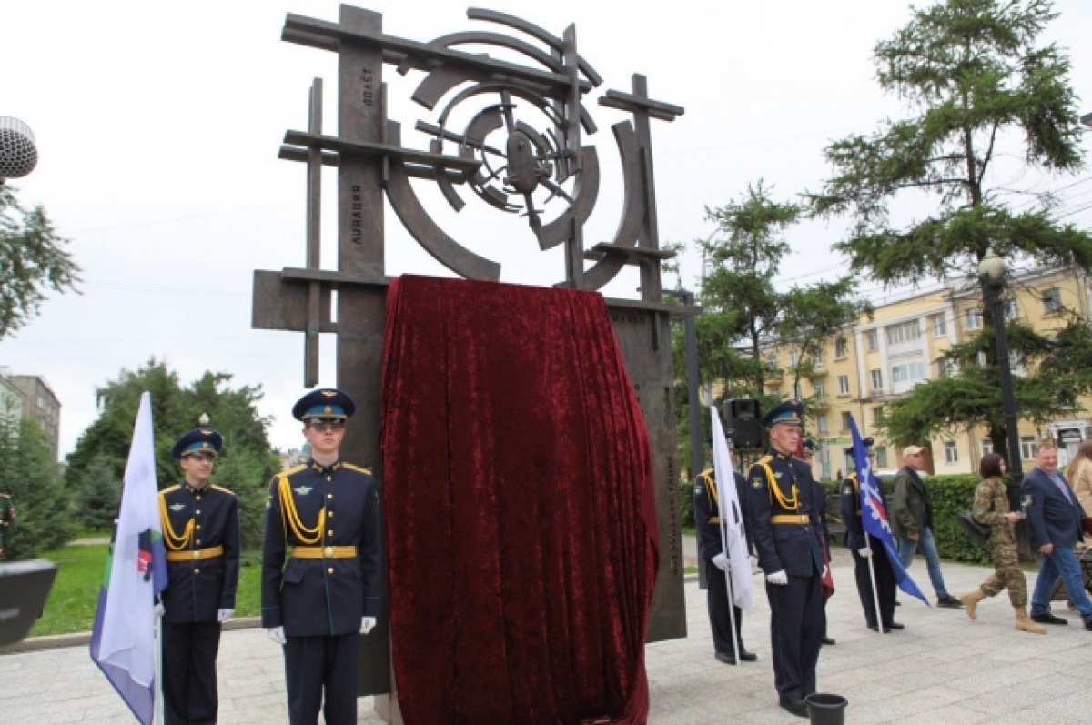
[[[355,725],[356,673],[360,634],[289,637],[284,645],[288,722],[316,725],[319,708],[327,725]]]

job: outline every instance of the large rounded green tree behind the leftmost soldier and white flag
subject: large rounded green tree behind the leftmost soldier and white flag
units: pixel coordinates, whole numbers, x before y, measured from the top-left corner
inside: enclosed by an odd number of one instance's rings
[[[212,483],[230,489],[239,499],[244,545],[261,544],[265,484],[280,470],[265,429],[269,421],[258,415],[260,387],[230,388],[232,376],[205,372],[183,387],[178,373],[154,358],[144,368],[122,370],[117,380],[96,391],[102,413],[84,430],[68,456],[66,480],[73,489],[87,476],[93,462],[103,461],[120,479],[124,474],[140,395],[152,394],[156,478],[159,487],[181,480],[178,463],[170,457],[175,441],[197,427],[202,414],[224,437],[224,450],[213,470]]]

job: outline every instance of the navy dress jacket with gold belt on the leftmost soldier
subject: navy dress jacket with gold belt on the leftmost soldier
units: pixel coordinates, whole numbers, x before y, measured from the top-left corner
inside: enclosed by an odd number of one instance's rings
[[[168,583],[161,595],[163,620],[216,621],[218,609],[235,608],[239,584],[239,507],[235,494],[219,486],[170,486],[159,491],[159,513],[168,554]],[[216,547],[223,549],[218,555],[197,558]],[[171,560],[194,552],[192,558]]]

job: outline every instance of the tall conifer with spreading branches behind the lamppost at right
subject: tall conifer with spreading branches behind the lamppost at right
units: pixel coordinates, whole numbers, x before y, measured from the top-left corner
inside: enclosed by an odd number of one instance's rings
[[[964,276],[985,293],[985,281],[975,275],[990,247],[1012,261],[1092,269],[1092,237],[1052,219],[1055,202],[1048,194],[1033,197],[1037,205],[1026,211],[1005,203],[1012,147],[1020,148],[1025,167],[1070,173],[1081,165],[1069,60],[1054,45],[1037,43],[1055,17],[1048,0],[947,0],[914,10],[905,27],[877,44],[880,86],[905,99],[910,116],[881,123],[869,136],[830,145],[826,155],[833,176],[820,192],[808,194],[814,214],[853,218],[848,238],[834,248],[850,257],[854,272],[887,286]],[[902,226],[892,221],[902,204],[929,199],[936,204],[931,216]],[[1011,347],[1025,360],[1042,362],[1061,354],[1047,349],[1061,340],[1080,338],[1078,347],[1088,349],[1088,334],[1078,325],[1057,341],[1013,335]],[[992,325],[972,345],[986,353],[985,370],[961,365],[956,377],[930,380],[888,407],[893,441],[981,423],[994,450],[1007,454],[1000,391],[984,378],[990,370],[996,375]],[[1056,372],[1040,365],[1014,381],[1022,409],[1031,409],[1024,406],[1034,389],[1044,389],[1044,376],[1059,401],[1088,390],[1087,376]],[[1034,415],[1060,413],[1061,405]]]

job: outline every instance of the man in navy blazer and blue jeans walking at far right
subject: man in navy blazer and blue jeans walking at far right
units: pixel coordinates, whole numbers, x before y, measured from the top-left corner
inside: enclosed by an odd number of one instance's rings
[[[1024,500],[1031,544],[1040,551],[1038,577],[1031,597],[1031,618],[1042,625],[1066,625],[1051,614],[1051,593],[1061,577],[1073,608],[1081,613],[1084,629],[1092,631],[1092,601],[1081,581],[1081,568],[1073,545],[1081,537],[1084,510],[1058,471],[1058,448],[1043,441],[1035,450],[1035,467],[1020,486]]]

